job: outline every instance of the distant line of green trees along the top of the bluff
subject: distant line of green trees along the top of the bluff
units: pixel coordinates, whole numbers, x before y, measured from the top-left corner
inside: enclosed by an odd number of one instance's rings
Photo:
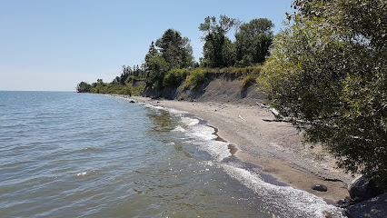
[[[233,28],[236,30],[234,42],[226,36]],[[194,61],[190,40],[179,31],[167,29],[164,35],[149,46],[144,64],[133,67],[124,65],[121,74],[110,84],[100,81],[93,84],[82,82],[78,84],[77,92],[132,94],[136,81],[144,81],[146,87],[161,90],[166,86],[183,83],[191,73],[201,77],[203,72],[208,71],[194,71],[197,67],[245,67],[262,64],[272,45],[272,28],[273,23],[266,18],[253,19],[250,23],[242,24],[226,15],[220,15],[218,22],[214,16],[208,16],[199,26],[205,34],[200,64]],[[138,90],[134,93],[138,93]]]

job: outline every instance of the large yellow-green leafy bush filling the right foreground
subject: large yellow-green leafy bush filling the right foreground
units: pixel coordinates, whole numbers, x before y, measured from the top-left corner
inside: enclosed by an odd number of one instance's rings
[[[260,79],[273,107],[322,143],[339,167],[387,190],[385,0],[293,3]]]

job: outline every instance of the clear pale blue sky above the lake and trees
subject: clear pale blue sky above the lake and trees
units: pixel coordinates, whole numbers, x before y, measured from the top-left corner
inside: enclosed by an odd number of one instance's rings
[[[173,28],[202,57],[208,15],[284,28],[292,0],[0,0],[0,90],[70,91],[81,81],[113,81],[141,65],[152,41]]]

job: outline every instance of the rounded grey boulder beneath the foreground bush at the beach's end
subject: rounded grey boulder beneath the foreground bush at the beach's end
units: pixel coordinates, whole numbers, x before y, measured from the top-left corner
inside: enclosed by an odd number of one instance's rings
[[[353,203],[360,203],[381,194],[381,190],[371,179],[359,176],[348,186]]]

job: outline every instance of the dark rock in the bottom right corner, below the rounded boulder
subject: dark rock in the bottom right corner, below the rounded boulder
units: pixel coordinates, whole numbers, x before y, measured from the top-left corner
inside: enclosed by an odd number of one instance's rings
[[[349,218],[386,218],[387,193],[378,195],[362,203],[356,203],[345,211]]]

